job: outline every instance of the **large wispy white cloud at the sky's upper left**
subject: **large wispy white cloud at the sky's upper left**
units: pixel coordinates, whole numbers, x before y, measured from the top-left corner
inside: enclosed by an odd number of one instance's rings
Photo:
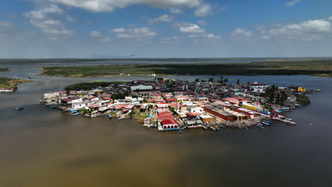
[[[68,35],[74,33],[72,30],[67,30],[64,24],[58,20],[58,18],[67,15],[56,5],[51,4],[36,11],[24,13],[24,16],[29,18],[33,26],[40,28],[47,35]]]

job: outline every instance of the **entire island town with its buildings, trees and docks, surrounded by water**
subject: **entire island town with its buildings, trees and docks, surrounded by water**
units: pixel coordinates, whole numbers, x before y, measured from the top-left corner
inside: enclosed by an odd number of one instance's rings
[[[44,94],[38,102],[87,118],[135,118],[146,128],[178,130],[258,127],[275,121],[296,125],[287,112],[310,103],[314,89],[228,79],[183,81],[155,77],[130,82],[92,82]]]

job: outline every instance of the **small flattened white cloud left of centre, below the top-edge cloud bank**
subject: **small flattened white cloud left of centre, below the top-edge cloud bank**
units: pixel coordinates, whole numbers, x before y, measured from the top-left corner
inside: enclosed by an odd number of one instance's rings
[[[155,31],[150,30],[150,28],[146,27],[133,29],[114,28],[111,31],[116,33],[117,38],[133,38],[136,40],[147,40],[157,35]]]

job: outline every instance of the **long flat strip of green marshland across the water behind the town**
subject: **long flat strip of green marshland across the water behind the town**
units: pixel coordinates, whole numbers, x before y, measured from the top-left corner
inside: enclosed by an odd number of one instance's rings
[[[99,66],[43,67],[40,75],[99,77],[119,74],[189,75],[315,75],[332,77],[332,61],[251,62],[236,64],[121,64]],[[223,82],[226,82],[223,79]]]

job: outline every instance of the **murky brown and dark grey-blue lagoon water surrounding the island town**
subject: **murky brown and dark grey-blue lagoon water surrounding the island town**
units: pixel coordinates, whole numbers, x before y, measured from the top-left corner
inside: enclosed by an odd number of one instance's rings
[[[286,113],[298,125],[179,135],[143,128],[135,120],[84,118],[36,105],[43,93],[68,84],[151,77],[35,76],[42,66],[0,64],[12,69],[0,76],[34,81],[0,94],[0,186],[331,186],[331,78],[228,77],[322,91],[309,95],[311,105]],[[13,110],[18,105],[26,108]]]

